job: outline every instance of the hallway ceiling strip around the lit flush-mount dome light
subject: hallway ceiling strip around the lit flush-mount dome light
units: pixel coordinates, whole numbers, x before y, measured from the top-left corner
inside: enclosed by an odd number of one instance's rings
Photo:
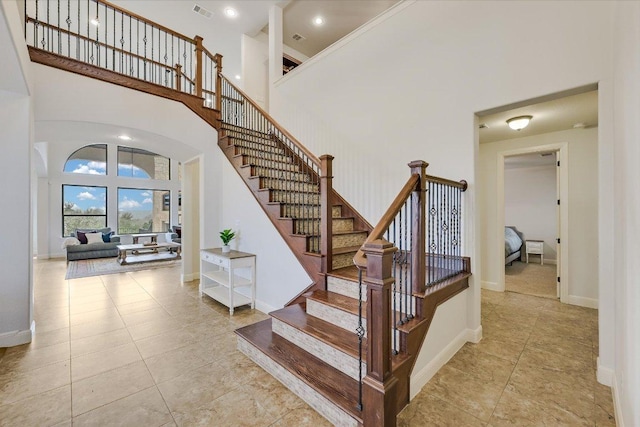
[[[529,126],[520,131],[509,128],[507,119],[524,115],[533,116]],[[573,129],[577,123],[592,128],[598,126],[598,91],[590,90],[542,102],[532,101],[530,105],[488,114],[478,113],[478,116],[478,123],[488,126],[479,129],[481,144]]]

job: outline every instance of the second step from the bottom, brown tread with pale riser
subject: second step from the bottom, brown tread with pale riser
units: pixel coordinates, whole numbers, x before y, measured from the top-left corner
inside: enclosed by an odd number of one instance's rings
[[[269,313],[273,317],[275,333],[293,342],[298,347],[324,360],[331,366],[358,379],[359,343],[358,335],[305,311],[303,304],[295,304]],[[362,373],[366,374],[366,338],[362,343]]]

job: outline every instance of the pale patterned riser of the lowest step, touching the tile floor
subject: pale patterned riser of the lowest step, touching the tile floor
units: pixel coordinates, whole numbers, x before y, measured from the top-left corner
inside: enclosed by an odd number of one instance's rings
[[[240,337],[238,337],[238,350],[262,367],[262,369],[269,372],[274,378],[307,402],[309,406],[329,420],[333,425],[345,427],[358,426],[358,422],[346,412]]]

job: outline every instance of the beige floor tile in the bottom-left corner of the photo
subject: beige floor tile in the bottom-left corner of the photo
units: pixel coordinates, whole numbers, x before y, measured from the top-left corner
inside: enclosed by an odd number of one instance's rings
[[[71,386],[0,406],[0,426],[55,426],[71,418]]]

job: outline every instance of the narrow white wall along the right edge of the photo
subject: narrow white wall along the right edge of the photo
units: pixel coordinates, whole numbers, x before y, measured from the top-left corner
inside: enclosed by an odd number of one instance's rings
[[[608,316],[600,316],[598,378],[611,373],[608,362],[613,354],[616,422],[629,427],[640,425],[640,3],[619,2],[617,7],[613,158],[616,262],[613,287],[608,280],[600,291]],[[604,355],[603,346],[609,350]]]

